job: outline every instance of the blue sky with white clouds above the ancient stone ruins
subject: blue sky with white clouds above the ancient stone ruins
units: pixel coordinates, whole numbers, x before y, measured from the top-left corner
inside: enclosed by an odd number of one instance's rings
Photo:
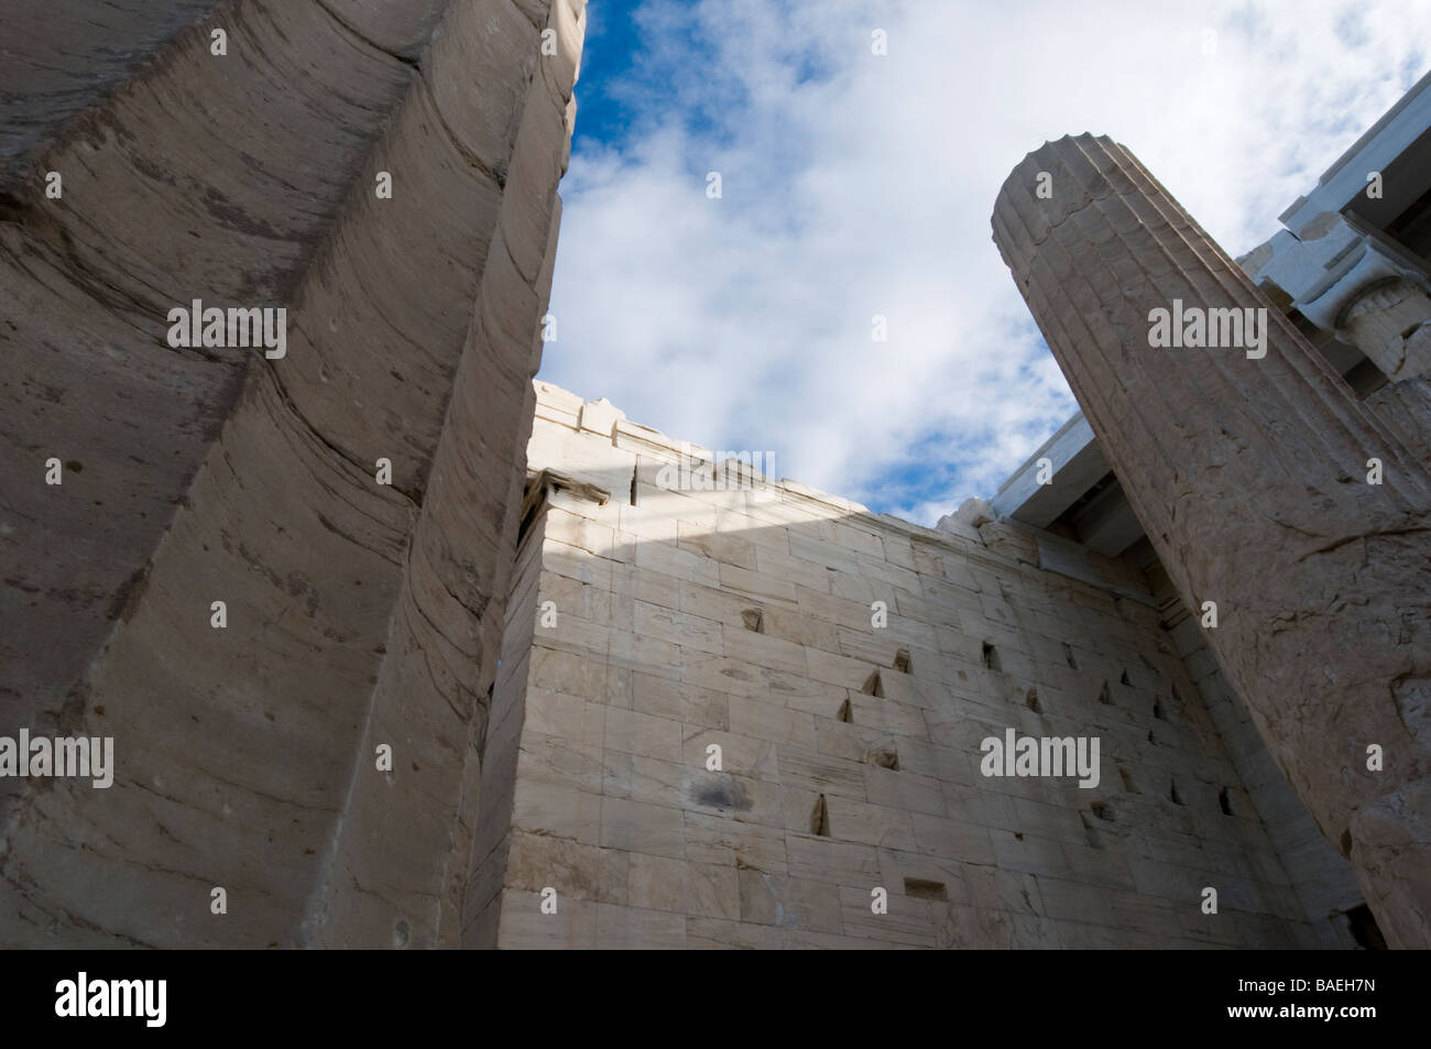
[[[1076,409],[990,240],[1025,153],[1112,135],[1238,255],[1427,40],[1428,0],[591,0],[541,378],[930,525]]]

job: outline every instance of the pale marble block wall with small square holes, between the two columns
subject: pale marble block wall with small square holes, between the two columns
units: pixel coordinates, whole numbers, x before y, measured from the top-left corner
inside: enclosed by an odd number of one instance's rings
[[[1043,571],[997,527],[748,475],[670,491],[680,445],[537,389],[548,495],[514,572],[465,945],[1315,946],[1151,600]],[[1100,781],[985,777],[1007,728],[1096,736]]]

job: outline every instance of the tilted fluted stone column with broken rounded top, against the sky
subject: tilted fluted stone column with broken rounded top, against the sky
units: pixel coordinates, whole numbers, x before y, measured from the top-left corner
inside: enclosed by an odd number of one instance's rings
[[[1208,643],[1278,764],[1388,942],[1431,946],[1425,464],[1108,137],[1030,153],[993,235],[1182,598],[1215,604]],[[1254,323],[1229,339],[1213,309]],[[1213,323],[1165,339],[1155,311]],[[1239,345],[1189,345],[1209,331]]]

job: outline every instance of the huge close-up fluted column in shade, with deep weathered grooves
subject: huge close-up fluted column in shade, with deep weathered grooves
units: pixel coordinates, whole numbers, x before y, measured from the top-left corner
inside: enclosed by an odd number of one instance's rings
[[[72,114],[7,99],[0,723],[119,773],[6,781],[0,942],[454,943],[584,3],[130,7]],[[286,358],[170,349],[193,298]]]

